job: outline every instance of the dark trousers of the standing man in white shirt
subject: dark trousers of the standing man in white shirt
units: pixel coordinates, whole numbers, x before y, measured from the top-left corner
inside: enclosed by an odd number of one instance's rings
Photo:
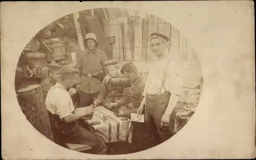
[[[163,143],[174,135],[174,112],[170,116],[166,129],[160,129],[161,118],[167,108],[170,93],[146,95],[145,124],[146,130],[151,134],[151,141],[155,145]]]

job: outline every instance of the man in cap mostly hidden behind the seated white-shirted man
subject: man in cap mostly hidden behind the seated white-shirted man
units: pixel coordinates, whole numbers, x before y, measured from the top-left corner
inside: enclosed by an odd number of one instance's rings
[[[47,93],[51,87],[53,87],[56,82],[59,81],[59,71],[61,70],[62,66],[51,63],[48,65],[48,73],[49,77],[47,77],[44,81],[42,81],[39,85],[42,91],[42,95],[44,95],[44,99],[46,99]],[[76,93],[75,88],[70,88],[68,90],[70,96],[73,96]]]

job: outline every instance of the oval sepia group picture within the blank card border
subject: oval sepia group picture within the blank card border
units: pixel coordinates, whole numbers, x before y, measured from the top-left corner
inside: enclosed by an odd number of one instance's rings
[[[27,120],[54,143],[91,154],[134,153],[172,138],[196,112],[202,87],[186,37],[124,8],[56,19],[28,42],[15,74]]]

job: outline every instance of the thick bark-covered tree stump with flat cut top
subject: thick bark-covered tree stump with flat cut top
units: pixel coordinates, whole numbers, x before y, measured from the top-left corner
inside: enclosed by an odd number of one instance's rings
[[[18,101],[28,121],[49,140],[54,141],[51,123],[39,85],[19,89]]]

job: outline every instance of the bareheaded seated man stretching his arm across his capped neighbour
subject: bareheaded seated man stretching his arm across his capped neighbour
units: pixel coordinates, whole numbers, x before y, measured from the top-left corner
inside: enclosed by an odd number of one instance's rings
[[[130,106],[128,111],[120,111],[119,113],[114,113],[117,117],[131,118],[131,113],[137,113],[137,109],[140,106],[145,83],[137,67],[131,62],[125,63],[123,65],[123,67],[121,68],[121,73],[124,75],[125,78],[110,78],[108,80],[108,84],[112,87],[131,87],[132,105]],[[147,132],[145,131],[146,128],[144,123],[133,122],[133,126],[134,142],[132,148],[134,149],[134,151],[142,151],[153,147],[153,144],[147,141],[150,135],[148,135]]]

